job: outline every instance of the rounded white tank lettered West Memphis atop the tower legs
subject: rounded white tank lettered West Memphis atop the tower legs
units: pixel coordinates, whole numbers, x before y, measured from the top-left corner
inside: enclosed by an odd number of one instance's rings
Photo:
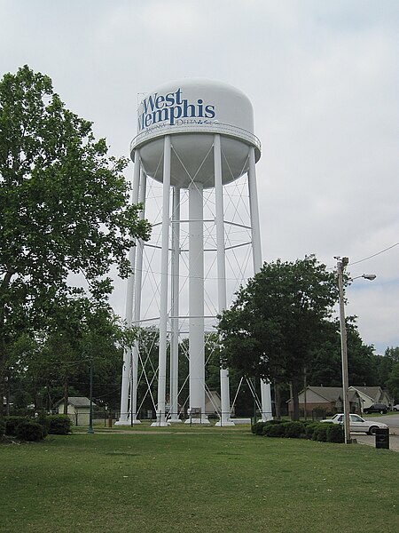
[[[213,144],[221,135],[223,184],[248,170],[249,147],[261,156],[254,135],[254,111],[249,99],[229,84],[206,79],[183,79],[162,84],[145,95],[137,110],[135,151],[145,172],[163,179],[163,139],[171,135],[171,185],[189,187],[195,181],[214,187]]]

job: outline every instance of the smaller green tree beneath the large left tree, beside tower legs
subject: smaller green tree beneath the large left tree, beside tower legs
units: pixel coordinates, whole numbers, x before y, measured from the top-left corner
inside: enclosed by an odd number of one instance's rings
[[[58,300],[48,330],[36,338],[35,350],[22,359],[24,374],[42,394],[54,394],[62,385],[59,398],[64,397],[66,412],[71,384],[79,394],[90,394],[91,361],[96,370],[93,395],[99,399],[106,394],[106,376],[115,367],[120,372],[122,347],[130,346],[133,337],[134,331],[125,328],[104,302],[82,295],[66,296]],[[47,390],[43,391],[44,386]],[[111,390],[114,387],[113,379]]]

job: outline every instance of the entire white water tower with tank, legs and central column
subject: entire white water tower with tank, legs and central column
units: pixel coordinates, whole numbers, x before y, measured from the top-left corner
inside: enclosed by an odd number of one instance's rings
[[[246,244],[251,249],[252,274],[262,267],[255,177],[255,163],[261,156],[261,146],[254,135],[253,108],[246,95],[231,85],[184,79],[160,85],[148,93],[138,107],[137,121],[137,136],[131,143],[131,158],[135,163],[133,203],[146,203],[147,178],[161,184],[160,220],[154,225],[160,235],[159,245],[154,246],[160,252],[158,282],[155,283],[159,300],[153,309],[153,324],[159,331],[157,421],[154,425],[166,426],[168,421],[179,421],[176,408],[178,338],[183,322],[189,338],[190,422],[206,424],[205,324],[209,320],[215,324],[215,314],[228,306],[226,225],[231,227],[234,223],[225,217],[224,190],[241,177],[246,177],[248,189],[250,223],[246,230],[250,238]],[[209,194],[212,195],[211,201]],[[185,216],[182,216],[181,209],[183,195],[187,200]],[[206,216],[204,195],[207,197]],[[147,213],[145,216],[153,222]],[[204,232],[207,234],[205,239]],[[205,244],[211,234],[214,246]],[[134,274],[128,283],[126,318],[129,324],[137,326],[147,323],[141,315],[145,245],[138,242],[130,252]],[[208,291],[210,298],[215,300],[213,316],[204,310],[204,268],[209,262],[205,256],[209,251],[215,252],[215,290]],[[187,273],[185,283],[182,282],[182,266]],[[187,303],[183,313],[184,291]],[[139,423],[138,356],[137,342],[131,353],[124,357],[121,418],[118,422],[121,425]],[[168,356],[170,378],[167,391]],[[220,380],[221,416],[218,424],[233,425],[228,370],[221,370]],[[262,418],[271,418],[270,386],[263,382],[261,392]]]

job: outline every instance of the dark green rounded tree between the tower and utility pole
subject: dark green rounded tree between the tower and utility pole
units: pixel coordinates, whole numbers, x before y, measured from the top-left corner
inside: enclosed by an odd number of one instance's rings
[[[299,418],[302,372],[310,367],[337,299],[335,275],[314,256],[265,263],[219,317],[223,363],[248,377],[291,381],[293,417]]]

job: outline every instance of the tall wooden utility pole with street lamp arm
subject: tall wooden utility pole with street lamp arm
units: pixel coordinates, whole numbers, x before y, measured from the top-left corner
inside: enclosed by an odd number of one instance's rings
[[[345,302],[343,293],[343,272],[348,265],[348,258],[335,258],[337,260],[338,273],[338,289],[340,295],[340,353],[342,360],[342,395],[343,395],[343,411],[344,411],[344,434],[345,443],[350,444],[350,422],[349,422],[349,386],[348,386],[348,344],[347,344],[347,327],[345,324]],[[362,274],[358,275],[357,279],[363,277],[365,280],[375,280],[376,274]]]

